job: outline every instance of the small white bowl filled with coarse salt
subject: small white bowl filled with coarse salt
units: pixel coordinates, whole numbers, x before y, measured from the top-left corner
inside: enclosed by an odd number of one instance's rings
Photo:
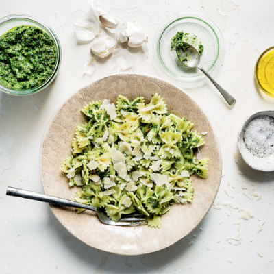
[[[261,110],[245,120],[238,149],[252,169],[274,171],[274,110]]]

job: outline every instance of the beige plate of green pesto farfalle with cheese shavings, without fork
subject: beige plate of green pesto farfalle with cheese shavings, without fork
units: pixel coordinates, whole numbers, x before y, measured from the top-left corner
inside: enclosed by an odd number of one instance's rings
[[[105,77],[68,99],[47,127],[40,169],[49,195],[100,208],[113,221],[145,215],[146,225],[119,227],[94,212],[51,206],[79,240],[122,255],[164,249],[195,229],[222,170],[218,140],[197,103],[137,74]]]

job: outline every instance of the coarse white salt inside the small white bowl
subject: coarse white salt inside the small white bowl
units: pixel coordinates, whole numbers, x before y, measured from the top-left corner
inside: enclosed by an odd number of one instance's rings
[[[243,133],[245,146],[257,157],[267,157],[274,152],[274,118],[262,115],[251,120]]]

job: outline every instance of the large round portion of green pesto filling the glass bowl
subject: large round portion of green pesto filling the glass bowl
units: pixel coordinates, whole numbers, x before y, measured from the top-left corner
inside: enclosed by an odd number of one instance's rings
[[[42,29],[21,25],[0,37],[0,83],[12,90],[43,84],[55,69],[57,51]]]

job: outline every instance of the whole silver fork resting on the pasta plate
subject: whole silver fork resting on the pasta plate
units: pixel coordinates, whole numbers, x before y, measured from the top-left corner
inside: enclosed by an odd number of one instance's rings
[[[34,191],[23,190],[20,188],[12,188],[8,186],[7,195],[21,197],[25,199],[32,199],[36,201],[44,201],[45,203],[51,203],[58,206],[69,206],[71,208],[84,208],[85,210],[95,211],[101,223],[105,225],[122,225],[122,226],[136,226],[146,223],[145,216],[142,214],[128,214],[127,216],[122,216],[118,222],[114,222],[108,218],[104,212],[96,210],[93,206],[85,205],[84,203],[78,203],[77,201],[71,201],[67,199],[62,199],[59,197],[54,197],[51,195],[46,195]]]

